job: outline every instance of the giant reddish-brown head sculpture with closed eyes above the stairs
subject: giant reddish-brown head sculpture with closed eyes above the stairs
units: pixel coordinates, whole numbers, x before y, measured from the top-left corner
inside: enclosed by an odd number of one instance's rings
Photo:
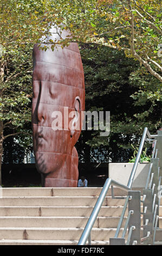
[[[58,39],[54,28],[52,32],[50,38]],[[62,37],[67,35],[62,32]],[[36,44],[33,60],[32,124],[37,170],[46,187],[76,187],[78,156],[74,145],[85,109],[79,48],[70,43],[63,49],[58,45],[54,51],[44,51]]]

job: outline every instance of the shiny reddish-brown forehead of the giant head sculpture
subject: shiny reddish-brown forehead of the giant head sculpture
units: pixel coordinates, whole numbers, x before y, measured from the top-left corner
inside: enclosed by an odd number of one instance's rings
[[[80,53],[60,46],[54,51],[51,48],[43,51],[35,45],[33,81],[54,82],[84,89]]]

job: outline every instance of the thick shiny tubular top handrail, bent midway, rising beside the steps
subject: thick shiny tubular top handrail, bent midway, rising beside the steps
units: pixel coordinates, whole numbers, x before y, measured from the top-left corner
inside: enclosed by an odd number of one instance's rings
[[[107,194],[108,189],[111,186],[111,184],[119,186],[120,188],[122,188],[124,190],[130,190],[131,189],[132,184],[133,184],[133,180],[134,180],[134,176],[135,176],[135,172],[137,170],[138,163],[139,163],[139,160],[140,160],[140,155],[141,155],[141,152],[142,152],[142,148],[143,148],[144,143],[145,143],[146,135],[148,136],[148,138],[151,138],[150,132],[148,131],[147,127],[145,127],[145,129],[144,129],[144,132],[143,132],[143,135],[142,135],[142,138],[141,138],[141,142],[140,142],[140,145],[139,145],[138,154],[137,154],[137,157],[136,157],[135,162],[133,164],[132,172],[131,172],[131,175],[129,176],[129,180],[128,180],[127,186],[122,185],[119,182],[116,182],[116,181],[114,181],[112,179],[109,179],[109,178],[106,180],[105,185],[102,188],[100,196],[99,196],[99,198],[98,198],[98,200],[97,200],[97,202],[96,202],[96,204],[94,206],[92,214],[90,215],[90,217],[88,219],[86,227],[83,230],[82,235],[81,235],[80,240],[77,243],[77,245],[85,245],[85,243],[86,243],[86,241],[87,241],[87,239],[88,239],[88,237],[90,235],[90,232],[91,232],[91,230],[93,228],[93,225],[94,225],[94,222],[96,220],[96,217],[99,214],[99,211],[100,211],[100,208],[102,206],[103,200],[105,199],[106,194]]]

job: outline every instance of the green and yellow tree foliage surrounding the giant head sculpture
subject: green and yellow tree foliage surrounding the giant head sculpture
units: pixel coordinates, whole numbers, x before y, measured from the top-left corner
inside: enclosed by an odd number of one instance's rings
[[[161,126],[160,22],[155,0],[2,0],[0,166],[5,139],[19,136],[21,146],[31,147],[32,48],[51,24],[70,29],[63,46],[79,42],[86,111],[111,112],[108,138],[82,132],[76,145],[81,159],[127,161],[132,151],[125,148],[138,143],[143,128]]]

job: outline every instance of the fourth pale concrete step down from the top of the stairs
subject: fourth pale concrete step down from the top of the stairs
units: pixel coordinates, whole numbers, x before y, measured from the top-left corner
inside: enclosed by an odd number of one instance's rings
[[[120,217],[97,217],[94,228],[116,228]],[[0,227],[84,228],[88,217],[0,217]],[[126,217],[122,223],[124,227]]]

